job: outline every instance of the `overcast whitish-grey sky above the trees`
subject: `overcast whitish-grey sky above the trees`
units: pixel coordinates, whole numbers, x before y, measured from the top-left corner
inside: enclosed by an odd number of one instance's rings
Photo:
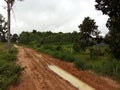
[[[24,0],[17,1],[11,11],[11,33],[33,29],[43,32],[78,31],[78,25],[85,17],[94,19],[101,35],[108,32],[106,22],[108,16],[95,9],[95,0]],[[6,17],[4,0],[0,0],[0,14]]]

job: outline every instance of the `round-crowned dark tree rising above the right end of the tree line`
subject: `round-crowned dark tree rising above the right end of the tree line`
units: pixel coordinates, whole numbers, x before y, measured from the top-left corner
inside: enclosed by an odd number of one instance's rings
[[[96,25],[94,19],[85,17],[82,24],[80,24],[78,27],[80,28],[81,32],[80,43],[82,43],[82,47],[86,48],[87,46],[92,45],[92,36],[95,36],[95,33],[98,32],[98,26]]]

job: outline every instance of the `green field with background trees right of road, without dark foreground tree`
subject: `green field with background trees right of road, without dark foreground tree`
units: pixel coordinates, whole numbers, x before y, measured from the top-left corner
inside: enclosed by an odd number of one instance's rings
[[[73,62],[78,69],[92,70],[98,75],[120,81],[120,59],[114,58],[106,43],[107,38],[99,35],[94,19],[86,17],[79,28],[80,32],[73,33],[22,32],[19,43],[62,61]]]

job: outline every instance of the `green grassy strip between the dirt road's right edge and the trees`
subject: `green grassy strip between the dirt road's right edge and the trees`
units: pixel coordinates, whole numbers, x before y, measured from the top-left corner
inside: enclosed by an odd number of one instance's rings
[[[58,50],[58,46],[61,49]],[[86,51],[81,50],[80,52],[74,52],[72,46],[72,44],[46,44],[35,49],[50,54],[62,61],[73,62],[78,69],[92,70],[98,75],[108,76],[120,82],[120,61],[115,60],[109,55],[107,46],[93,46],[87,48]],[[92,48],[92,52],[90,52],[90,48]]]

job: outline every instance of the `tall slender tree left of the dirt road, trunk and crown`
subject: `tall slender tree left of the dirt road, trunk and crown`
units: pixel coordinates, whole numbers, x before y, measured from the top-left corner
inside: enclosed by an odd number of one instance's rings
[[[7,39],[8,39],[8,52],[11,51],[11,37],[10,37],[10,26],[11,26],[11,9],[14,5],[15,0],[4,0],[7,4],[7,17],[8,17],[8,31],[7,31]],[[22,0],[19,0],[22,1]]]

